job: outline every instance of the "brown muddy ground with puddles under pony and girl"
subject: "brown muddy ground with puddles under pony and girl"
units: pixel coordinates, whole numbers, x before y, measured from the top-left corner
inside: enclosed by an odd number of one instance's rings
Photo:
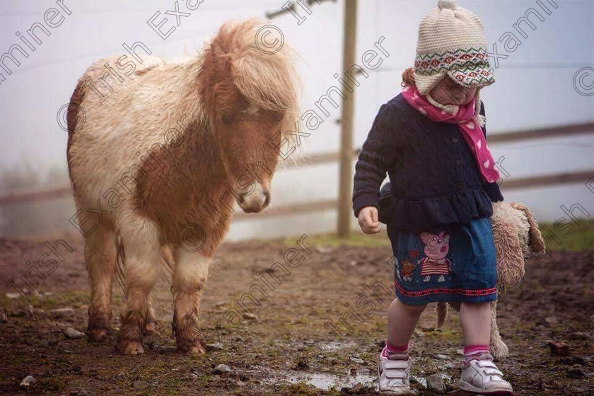
[[[28,269],[26,262],[37,262],[51,252],[42,240],[0,239],[0,309],[8,316],[0,323],[0,393],[378,394],[376,358],[393,294],[376,288],[378,300],[363,284],[381,282],[393,293],[385,264],[388,245],[336,247],[306,238],[310,255],[305,253],[305,261],[290,269],[289,276],[277,271],[282,283],[272,291],[255,273],[264,274],[274,262],[283,262],[290,248],[303,253],[297,238],[227,243],[216,254],[202,305],[202,329],[208,343],[215,344],[211,350],[201,356],[175,351],[170,286],[163,276],[154,296],[161,321],[158,334],[146,339],[144,355],[122,356],[114,347],[117,332],[103,344],[64,335],[67,327],[81,332],[86,327],[89,291],[79,239],[64,237],[74,252],[60,248],[65,261],[58,261],[54,272],[45,273],[53,264],[38,268],[44,271],[44,281],[30,276],[35,289],[28,288],[26,301],[6,281],[13,276],[23,287],[19,277]],[[499,368],[517,395],[594,395],[593,264],[591,251],[554,252],[544,262],[528,263],[523,286],[499,296],[499,327],[511,351]],[[255,316],[240,320],[233,315],[228,320],[226,313],[243,312],[237,301],[252,285],[261,286],[268,298],[255,291],[260,305],[245,302]],[[115,286],[115,328],[121,304],[122,291]],[[351,331],[339,322],[349,308],[360,315],[360,320],[347,318]],[[328,320],[344,337],[325,327]],[[411,343],[414,389],[418,395],[435,395],[425,388],[425,378],[443,373],[448,392],[462,395],[453,388],[460,374],[457,350],[462,347],[458,315],[450,311],[443,329],[434,325],[430,306]],[[552,351],[550,341],[566,347]],[[230,371],[217,368],[219,364]],[[19,383],[27,375],[36,382],[23,390]]]

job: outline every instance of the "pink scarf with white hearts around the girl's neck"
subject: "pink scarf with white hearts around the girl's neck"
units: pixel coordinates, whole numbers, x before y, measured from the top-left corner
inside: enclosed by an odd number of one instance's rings
[[[487,147],[482,129],[474,119],[474,100],[467,105],[461,105],[455,115],[435,107],[424,95],[421,95],[417,87],[407,85],[402,90],[402,97],[409,105],[417,109],[421,114],[429,117],[433,122],[447,122],[458,124],[466,144],[472,150],[474,159],[477,161],[482,180],[496,182],[499,180],[499,171],[495,168],[495,161]]]

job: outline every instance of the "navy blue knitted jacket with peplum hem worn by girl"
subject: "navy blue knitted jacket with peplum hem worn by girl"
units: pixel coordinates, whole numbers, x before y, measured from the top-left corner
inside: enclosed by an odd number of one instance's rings
[[[380,196],[386,173],[390,183]],[[375,206],[380,221],[392,228],[438,231],[491,216],[491,202],[502,200],[499,185],[482,180],[456,124],[429,120],[402,94],[380,107],[355,167],[355,216]]]

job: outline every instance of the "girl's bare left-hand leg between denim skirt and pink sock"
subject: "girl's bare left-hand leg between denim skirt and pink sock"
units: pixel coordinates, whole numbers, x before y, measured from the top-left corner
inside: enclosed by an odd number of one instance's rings
[[[395,298],[388,308],[388,342],[394,346],[407,344],[426,306],[404,304]]]

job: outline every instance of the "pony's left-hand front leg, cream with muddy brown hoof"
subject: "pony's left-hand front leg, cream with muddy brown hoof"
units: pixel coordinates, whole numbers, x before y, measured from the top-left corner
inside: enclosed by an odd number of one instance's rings
[[[129,216],[120,228],[125,256],[126,303],[120,315],[117,349],[122,354],[144,353],[142,339],[147,323],[154,318],[148,296],[158,278],[159,233],[157,226],[141,217]]]

